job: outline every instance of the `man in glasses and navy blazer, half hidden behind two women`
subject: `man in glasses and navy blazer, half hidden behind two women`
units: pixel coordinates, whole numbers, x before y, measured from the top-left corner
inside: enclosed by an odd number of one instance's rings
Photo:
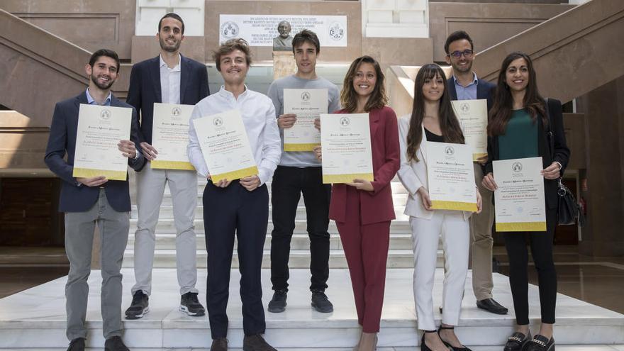
[[[486,99],[487,110],[492,105],[492,94],[496,87],[479,79],[472,71],[474,46],[468,33],[458,30],[448,36],[444,45],[446,62],[453,67],[453,74],[447,80],[452,100]],[[487,156],[474,162],[474,178],[481,193],[481,213],[470,216],[470,242],[472,251],[472,290],[477,299],[477,307],[496,314],[506,314],[507,308],[496,302],[492,296],[492,223],[494,205],[492,192],[481,185]]]

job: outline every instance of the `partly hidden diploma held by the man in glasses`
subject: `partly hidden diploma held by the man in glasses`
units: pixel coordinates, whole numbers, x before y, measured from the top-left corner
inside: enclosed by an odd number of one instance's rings
[[[472,146],[472,160],[487,156],[487,100],[452,101],[466,144]]]

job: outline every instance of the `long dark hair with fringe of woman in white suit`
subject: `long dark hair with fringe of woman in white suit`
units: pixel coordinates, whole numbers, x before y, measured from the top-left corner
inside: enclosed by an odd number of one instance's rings
[[[423,119],[425,118],[425,96],[423,94],[423,86],[425,80],[435,79],[438,75],[442,79],[444,91],[438,101],[438,118],[440,120],[440,129],[442,130],[442,138],[445,143],[464,143],[464,133],[462,127],[459,126],[459,120],[455,116],[455,111],[451,105],[451,99],[446,87],[446,75],[440,66],[430,63],[420,67],[416,79],[414,80],[414,104],[412,108],[412,116],[409,122],[409,131],[407,133],[407,157],[408,160],[418,162],[416,152],[420,142],[423,140]]]

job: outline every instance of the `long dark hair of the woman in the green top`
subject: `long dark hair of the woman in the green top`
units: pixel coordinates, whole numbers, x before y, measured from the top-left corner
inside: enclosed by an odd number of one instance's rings
[[[502,135],[505,133],[509,118],[511,118],[511,110],[513,109],[513,97],[506,82],[507,67],[511,65],[513,60],[519,58],[527,62],[529,71],[529,82],[524,94],[523,106],[531,115],[533,123],[537,121],[537,115],[542,117],[543,126],[548,125],[548,116],[546,116],[546,108],[544,98],[537,91],[537,78],[535,77],[535,69],[533,69],[533,61],[523,52],[511,52],[505,57],[501,65],[501,71],[498,72],[498,83],[494,92],[494,101],[489,111],[488,135]]]

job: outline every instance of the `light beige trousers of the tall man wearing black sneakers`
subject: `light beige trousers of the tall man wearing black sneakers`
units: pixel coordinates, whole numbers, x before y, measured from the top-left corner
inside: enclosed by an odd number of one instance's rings
[[[176,267],[180,294],[197,292],[195,208],[197,206],[197,173],[173,169],[152,169],[150,162],[137,177],[138,223],[134,242],[135,291],[152,293],[152,267],[156,247],[155,229],[165,183],[169,183],[176,228]]]

